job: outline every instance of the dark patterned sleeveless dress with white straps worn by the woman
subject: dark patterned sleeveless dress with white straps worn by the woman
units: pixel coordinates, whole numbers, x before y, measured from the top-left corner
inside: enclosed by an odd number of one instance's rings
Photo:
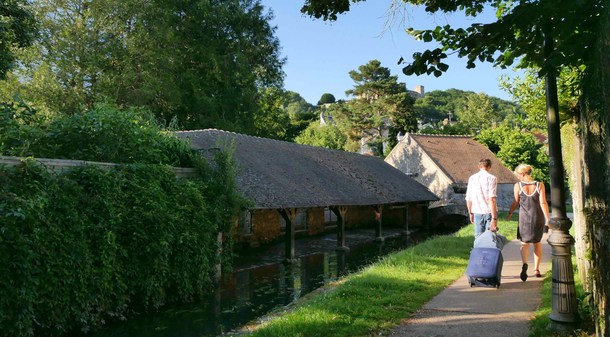
[[[528,195],[523,190],[523,185],[536,184],[536,190]],[[536,244],[542,239],[544,226],[547,220],[540,208],[540,183],[519,182],[519,228],[517,228],[517,239],[521,242]]]

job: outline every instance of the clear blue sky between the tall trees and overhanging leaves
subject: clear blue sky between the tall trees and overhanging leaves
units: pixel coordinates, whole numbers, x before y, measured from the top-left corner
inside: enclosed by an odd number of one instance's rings
[[[390,2],[369,0],[352,5],[350,12],[340,15],[336,22],[328,23],[301,15],[303,0],[262,0],[262,4],[274,12],[273,24],[278,26],[276,35],[282,45],[282,54],[288,57],[284,67],[285,89],[300,93],[313,104],[325,92],[332,93],[337,100],[345,98],[345,90],[353,85],[348,71],[368,60],[378,59],[382,66],[392,70],[392,74],[398,74],[401,82],[407,83],[407,89],[412,90],[415,85],[424,85],[426,91],[456,88],[510,99],[498,87],[498,77],[517,73],[511,69],[495,69],[491,63],[476,63],[476,68],[466,69],[466,59],[449,56],[444,62],[450,68],[440,78],[404,75],[404,65],[397,65],[401,56],[412,60],[413,53],[434,49],[437,43],[415,41],[398,27],[392,29],[392,34],[387,32],[378,37],[386,21],[382,16]],[[466,19],[462,13],[432,17],[423,8],[409,9],[409,13],[405,26],[415,29],[433,29],[445,24],[467,27],[495,21],[493,10],[487,10],[475,19]]]

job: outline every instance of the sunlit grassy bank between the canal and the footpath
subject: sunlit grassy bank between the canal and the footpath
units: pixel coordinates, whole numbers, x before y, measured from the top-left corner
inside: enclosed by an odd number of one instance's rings
[[[509,240],[517,233],[515,220],[499,223],[500,233]],[[388,255],[251,336],[378,335],[400,324],[464,273],[473,235],[471,224],[454,235],[434,237]]]

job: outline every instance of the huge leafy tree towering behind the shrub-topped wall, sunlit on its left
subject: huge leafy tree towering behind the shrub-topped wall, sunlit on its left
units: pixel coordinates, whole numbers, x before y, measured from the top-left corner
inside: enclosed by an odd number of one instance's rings
[[[284,73],[271,13],[256,0],[40,0],[43,35],[2,85],[5,99],[71,114],[99,96],[181,128],[249,133],[257,94]]]

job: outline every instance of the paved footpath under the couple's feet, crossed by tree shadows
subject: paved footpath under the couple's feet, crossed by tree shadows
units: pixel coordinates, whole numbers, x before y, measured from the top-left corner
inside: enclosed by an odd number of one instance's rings
[[[534,277],[534,252],[529,247],[528,280],[521,273],[520,242],[504,246],[500,289],[470,288],[465,275],[423,306],[411,319],[392,329],[393,337],[525,337],[529,319],[540,305],[542,277]],[[540,273],[547,272],[551,247],[542,238]],[[548,270],[550,272],[550,270]]]

